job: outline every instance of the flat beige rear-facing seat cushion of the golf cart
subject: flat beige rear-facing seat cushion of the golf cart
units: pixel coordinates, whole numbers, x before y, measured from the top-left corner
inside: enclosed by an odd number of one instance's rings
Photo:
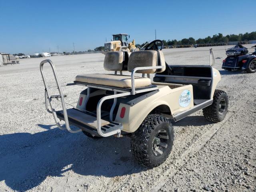
[[[98,85],[106,85],[106,86],[114,86],[120,88],[131,88],[132,80],[131,76],[128,75],[115,75],[115,74],[82,74],[76,76],[76,81],[98,84]],[[145,77],[135,77],[134,78],[135,87],[144,87],[151,85],[151,81],[149,78]]]

